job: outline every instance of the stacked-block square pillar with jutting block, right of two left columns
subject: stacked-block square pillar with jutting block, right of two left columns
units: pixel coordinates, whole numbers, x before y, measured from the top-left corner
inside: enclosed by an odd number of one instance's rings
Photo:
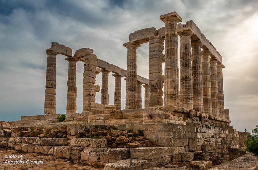
[[[97,57],[93,53],[84,56],[83,73],[83,107],[82,112],[96,109],[95,96],[100,87],[95,85]]]

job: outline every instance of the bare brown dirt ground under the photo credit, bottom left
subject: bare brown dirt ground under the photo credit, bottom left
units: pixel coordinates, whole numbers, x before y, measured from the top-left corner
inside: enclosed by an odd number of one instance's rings
[[[17,158],[6,158],[4,157],[6,155],[16,155]],[[20,156],[23,156],[23,158],[18,158]],[[12,156],[11,156],[12,157]],[[7,164],[6,161],[24,161],[18,162],[19,164]],[[34,162],[34,164],[26,163],[26,161],[38,161],[37,164]],[[43,161],[43,162],[40,162]],[[58,157],[55,157],[55,161],[52,161],[52,155],[44,155],[44,154],[37,154],[37,153],[24,153],[19,152],[16,150],[7,150],[5,152],[4,149],[0,149],[0,170],[103,170],[103,167],[100,166],[88,166],[85,164],[74,164],[70,163],[69,161],[65,159],[60,159]]]

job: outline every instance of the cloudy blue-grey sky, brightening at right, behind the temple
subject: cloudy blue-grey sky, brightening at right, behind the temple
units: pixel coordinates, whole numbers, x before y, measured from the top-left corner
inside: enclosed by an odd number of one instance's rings
[[[234,128],[258,124],[258,2],[245,1],[52,1],[0,0],[0,120],[43,115],[47,55],[51,42],[75,50],[89,47],[98,58],[126,69],[129,34],[161,28],[160,15],[176,11],[193,20],[222,55],[225,109]],[[164,53],[164,52],[163,52]],[[148,78],[148,44],[137,49],[137,74]],[[68,62],[57,56],[56,113],[66,112]],[[77,112],[82,112],[83,63],[77,64]],[[101,74],[97,76],[101,85]],[[109,103],[114,77],[109,74]],[[142,89],[144,90],[144,89]],[[101,94],[96,102],[101,102]],[[143,104],[144,106],[144,104]],[[122,108],[125,81],[122,80]]]

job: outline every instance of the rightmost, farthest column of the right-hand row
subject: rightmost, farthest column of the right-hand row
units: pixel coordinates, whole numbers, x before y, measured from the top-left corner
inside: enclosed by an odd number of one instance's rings
[[[217,64],[219,117],[224,118],[223,64]]]

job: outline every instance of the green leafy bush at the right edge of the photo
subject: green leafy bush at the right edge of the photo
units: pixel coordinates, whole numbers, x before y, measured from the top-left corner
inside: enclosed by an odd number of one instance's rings
[[[246,151],[251,152],[258,158],[258,125],[252,130],[252,134],[245,140]]]

